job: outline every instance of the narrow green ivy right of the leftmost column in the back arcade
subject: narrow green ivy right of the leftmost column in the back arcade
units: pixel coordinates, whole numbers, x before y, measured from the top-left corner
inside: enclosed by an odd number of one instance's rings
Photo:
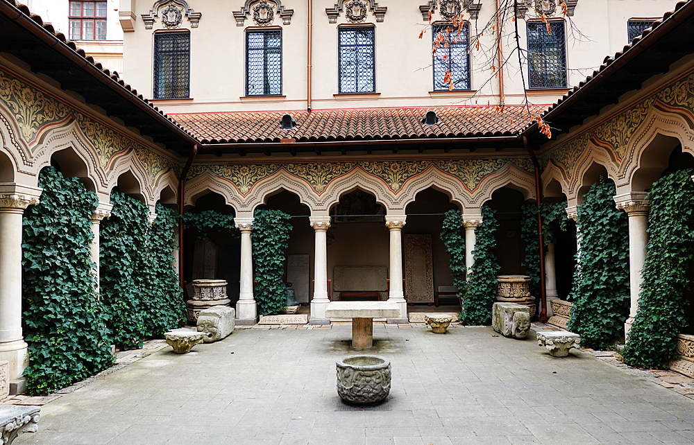
[[[289,215],[279,210],[258,209],[253,220],[255,300],[260,315],[275,315],[287,307],[285,249],[289,247]]]

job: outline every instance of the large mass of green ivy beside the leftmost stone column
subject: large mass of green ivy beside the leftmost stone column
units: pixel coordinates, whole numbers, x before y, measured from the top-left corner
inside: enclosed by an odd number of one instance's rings
[[[90,217],[99,200],[53,167],[39,174],[41,202],[24,211],[22,299],[30,394],[47,394],[113,361],[96,295]]]

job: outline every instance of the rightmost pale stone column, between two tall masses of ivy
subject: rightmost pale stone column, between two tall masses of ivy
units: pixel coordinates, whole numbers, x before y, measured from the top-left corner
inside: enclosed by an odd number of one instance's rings
[[[650,204],[646,199],[646,193],[625,193],[614,197],[617,208],[627,212],[629,217],[629,294],[631,295],[631,307],[629,318],[624,324],[625,338],[632,328],[636,311],[638,310],[638,293],[641,291],[641,270],[646,259],[646,247],[648,246],[648,211]]]

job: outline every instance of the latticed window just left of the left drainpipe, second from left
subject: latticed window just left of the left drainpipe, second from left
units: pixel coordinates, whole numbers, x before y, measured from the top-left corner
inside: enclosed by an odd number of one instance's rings
[[[282,94],[282,31],[246,33],[246,96]]]

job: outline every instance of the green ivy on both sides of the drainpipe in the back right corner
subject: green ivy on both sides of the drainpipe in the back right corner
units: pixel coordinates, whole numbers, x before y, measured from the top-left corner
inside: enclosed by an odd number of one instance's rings
[[[568,216],[566,215],[566,201],[543,202],[540,204],[542,216],[542,232],[545,234],[545,245],[554,240],[557,230],[566,230]],[[525,258],[521,262],[527,268],[527,276],[530,277],[530,293],[540,295],[540,248],[539,234],[537,233],[537,206],[535,204],[523,205],[523,225],[521,226],[521,239],[525,241]]]

